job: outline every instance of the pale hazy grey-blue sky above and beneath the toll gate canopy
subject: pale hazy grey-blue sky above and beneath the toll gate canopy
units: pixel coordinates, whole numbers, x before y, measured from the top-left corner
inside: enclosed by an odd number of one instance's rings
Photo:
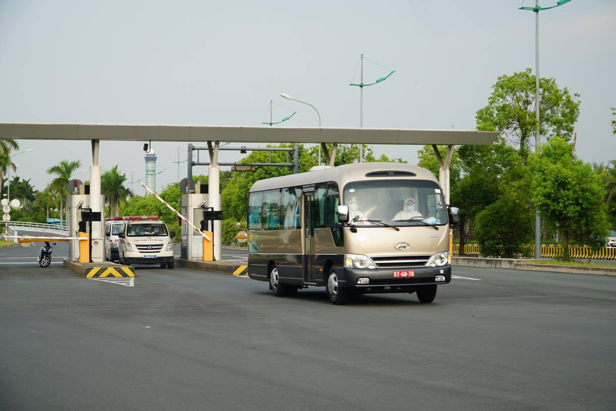
[[[359,89],[348,84],[363,52],[397,70],[365,89],[365,127],[472,129],[497,76],[534,70],[535,18],[520,4],[0,0],[0,121],[253,126],[273,98],[298,111],[285,124],[316,126],[314,111],[278,97],[285,92],[317,106],[323,126],[354,127]],[[540,19],[541,76],[581,95],[578,155],[616,158],[616,2],[573,0]],[[384,74],[367,63],[367,79]],[[15,157],[18,174],[39,190],[60,160],[91,163],[89,142],[20,143],[35,150]],[[166,169],[157,188],[177,179],[177,146],[153,145]],[[374,148],[416,162],[416,146]],[[142,143],[102,142],[100,161],[140,178],[143,155]]]

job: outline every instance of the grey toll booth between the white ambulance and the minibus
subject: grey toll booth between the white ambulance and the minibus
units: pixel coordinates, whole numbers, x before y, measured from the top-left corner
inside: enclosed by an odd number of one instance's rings
[[[195,184],[195,192],[182,194],[182,215],[193,225],[200,227],[203,220],[203,210],[208,207],[208,185]],[[182,221],[182,239],[180,244],[181,258],[187,260],[203,258],[203,237]]]

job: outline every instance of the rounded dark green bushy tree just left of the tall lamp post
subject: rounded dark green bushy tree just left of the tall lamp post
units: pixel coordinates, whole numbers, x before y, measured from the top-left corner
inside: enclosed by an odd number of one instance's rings
[[[535,225],[525,202],[505,194],[477,214],[474,234],[481,253],[488,257],[530,257]]]

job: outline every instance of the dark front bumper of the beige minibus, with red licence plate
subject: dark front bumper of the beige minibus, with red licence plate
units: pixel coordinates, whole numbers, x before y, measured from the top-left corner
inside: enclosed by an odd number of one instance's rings
[[[403,271],[405,277],[394,277],[394,271]],[[437,281],[438,276],[444,277]],[[360,278],[367,278],[368,284],[357,284]],[[363,293],[373,292],[407,292],[416,290],[421,285],[447,284],[452,281],[452,266],[413,267],[405,269],[378,268],[356,269],[344,268],[344,279],[338,279],[344,287],[353,288]]]

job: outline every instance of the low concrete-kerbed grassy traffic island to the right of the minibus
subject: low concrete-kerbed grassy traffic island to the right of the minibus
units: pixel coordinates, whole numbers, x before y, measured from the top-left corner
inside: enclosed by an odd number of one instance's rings
[[[509,268],[524,269],[526,271],[551,271],[571,274],[596,274],[603,276],[616,276],[616,268],[589,267],[560,264],[540,264],[529,258],[487,258],[487,257],[452,257],[452,265],[479,267],[479,268]]]

